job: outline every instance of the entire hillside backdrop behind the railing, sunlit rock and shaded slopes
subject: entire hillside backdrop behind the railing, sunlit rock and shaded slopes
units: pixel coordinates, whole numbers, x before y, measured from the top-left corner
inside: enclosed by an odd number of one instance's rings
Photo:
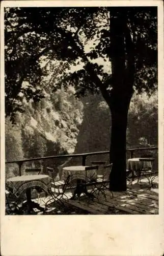
[[[70,92],[64,94],[65,100],[70,98],[72,100]],[[56,99],[54,99],[55,97],[53,95],[53,104],[54,102],[58,102],[57,95]],[[52,115],[55,114],[57,116],[58,112],[56,111],[53,113],[54,110],[51,109],[51,115],[47,115],[44,120],[42,116],[42,113],[47,110],[47,105],[50,104],[50,100],[48,99],[44,99],[44,108],[42,103],[40,103],[40,105],[37,106],[37,110],[34,104],[29,103],[29,106],[26,106],[26,113],[18,115],[19,118],[17,117],[17,125],[12,126],[9,118],[7,118],[6,160],[12,161],[23,158],[67,154],[71,152],[78,154],[108,150],[107,143],[110,140],[111,135],[111,114],[106,102],[103,100],[101,95],[92,94],[88,94],[80,100],[81,103],[74,98],[74,101],[76,102],[75,106],[77,107],[78,104],[81,108],[74,108],[74,103],[71,101],[67,102],[67,104],[63,106],[62,116],[60,116],[61,113],[59,112],[61,121],[58,122],[58,125],[64,130],[63,132],[60,131],[63,133],[63,139],[60,138],[57,142],[54,141],[55,137],[53,137],[52,132],[57,128],[54,126]],[[68,104],[72,105],[70,112],[65,108]],[[94,110],[97,111],[95,112]],[[70,115],[74,115],[74,118],[71,119],[71,125],[69,118]],[[80,117],[81,123],[78,120]],[[31,118],[33,118],[32,122],[30,122]],[[37,120],[39,120],[39,122],[35,127]],[[145,94],[134,94],[128,114],[127,148],[156,146],[158,129],[157,120],[157,93],[151,97]],[[71,130],[68,127],[71,127]],[[95,127],[97,128],[96,130]],[[51,134],[52,140],[48,140],[46,138],[47,133],[49,135]],[[66,134],[68,136],[66,136]],[[108,159],[106,156],[100,156],[100,159],[102,159],[102,157],[104,157],[104,160]],[[98,156],[96,156],[96,159],[97,158]],[[90,164],[90,161],[91,158],[88,158],[87,164]],[[59,165],[63,162],[65,162],[65,159],[56,159],[55,161],[46,160],[44,162],[39,162],[38,167],[42,164],[58,170]],[[72,162],[69,162],[69,164],[75,163],[81,164],[81,158],[72,159]],[[30,165],[32,163],[26,162],[26,164]],[[36,167],[36,161],[33,164]],[[23,165],[22,172],[24,168],[25,167]],[[7,172],[8,177],[18,175],[18,166],[8,166]]]

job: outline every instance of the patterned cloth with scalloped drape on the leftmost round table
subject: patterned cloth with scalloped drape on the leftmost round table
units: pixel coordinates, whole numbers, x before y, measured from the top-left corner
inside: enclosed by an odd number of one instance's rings
[[[6,185],[16,197],[19,197],[27,188],[41,187],[48,192],[51,181],[52,179],[48,175],[22,175],[9,178]]]

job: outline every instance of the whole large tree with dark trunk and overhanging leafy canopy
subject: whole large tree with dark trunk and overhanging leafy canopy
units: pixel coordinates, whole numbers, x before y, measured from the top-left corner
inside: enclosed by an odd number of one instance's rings
[[[92,49],[87,50],[87,44]],[[20,93],[26,100],[44,97],[38,87],[42,55],[67,63],[67,72],[62,71],[54,90],[72,84],[77,96],[86,90],[101,92],[112,117],[110,188],[126,190],[131,97],[134,89],[152,93],[157,87],[157,8],[7,8],[5,45],[7,115],[22,111]],[[68,74],[78,62],[80,68]],[[24,80],[29,82],[26,88]]]

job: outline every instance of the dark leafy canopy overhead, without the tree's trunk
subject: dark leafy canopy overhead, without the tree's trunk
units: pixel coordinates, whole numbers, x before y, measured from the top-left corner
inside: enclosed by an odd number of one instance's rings
[[[62,77],[56,84],[52,79],[51,86],[53,83],[56,88],[61,84],[67,87],[71,83],[77,96],[90,90],[101,91],[103,96],[110,97],[112,70],[106,64],[114,55],[110,28],[112,16],[122,20],[125,66],[128,70],[129,58],[133,56],[135,90],[153,92],[157,86],[157,8],[6,8],[6,115],[23,111],[20,93],[28,100],[38,101],[44,97],[43,84],[39,86],[41,77],[46,75],[46,70],[40,66],[41,56],[44,56],[44,61],[57,59],[67,63]],[[76,67],[73,73],[72,65]],[[55,70],[55,65],[52,68]],[[23,81],[28,81],[25,88]]]

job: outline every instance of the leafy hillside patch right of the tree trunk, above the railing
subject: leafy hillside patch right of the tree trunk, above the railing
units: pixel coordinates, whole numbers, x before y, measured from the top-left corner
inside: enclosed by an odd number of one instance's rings
[[[128,114],[127,146],[135,147],[158,144],[158,102],[157,93],[150,97],[143,93],[134,94]]]

